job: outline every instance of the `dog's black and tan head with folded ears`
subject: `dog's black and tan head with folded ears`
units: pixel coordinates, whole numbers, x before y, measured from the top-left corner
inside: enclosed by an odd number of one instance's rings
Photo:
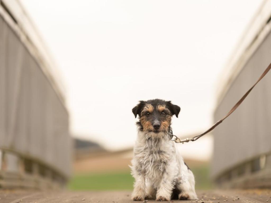
[[[167,132],[171,124],[171,117],[178,118],[180,107],[162,99],[140,101],[132,109],[133,114],[139,115],[140,121],[137,123],[140,130],[148,132]]]

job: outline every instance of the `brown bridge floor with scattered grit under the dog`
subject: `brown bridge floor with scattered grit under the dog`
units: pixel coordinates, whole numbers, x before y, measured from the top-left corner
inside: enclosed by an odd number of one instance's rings
[[[271,203],[271,190],[213,190],[198,191],[198,201],[171,200],[171,202],[198,203]],[[0,190],[1,203],[128,203],[130,191],[25,191]],[[142,202],[142,201],[140,201]],[[149,202],[155,202],[149,200]]]

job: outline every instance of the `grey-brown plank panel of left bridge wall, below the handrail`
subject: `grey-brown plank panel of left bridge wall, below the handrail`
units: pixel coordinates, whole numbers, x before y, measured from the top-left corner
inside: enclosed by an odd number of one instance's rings
[[[46,64],[31,55],[20,28],[14,30],[2,12],[0,6],[0,150],[67,178],[72,157],[68,112],[43,72]]]

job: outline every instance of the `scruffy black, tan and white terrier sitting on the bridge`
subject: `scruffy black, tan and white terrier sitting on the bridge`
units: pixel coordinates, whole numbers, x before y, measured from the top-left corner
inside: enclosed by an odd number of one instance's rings
[[[132,110],[139,115],[134,147],[132,199],[197,199],[195,179],[171,140],[171,118],[180,107],[161,99],[140,101]]]

